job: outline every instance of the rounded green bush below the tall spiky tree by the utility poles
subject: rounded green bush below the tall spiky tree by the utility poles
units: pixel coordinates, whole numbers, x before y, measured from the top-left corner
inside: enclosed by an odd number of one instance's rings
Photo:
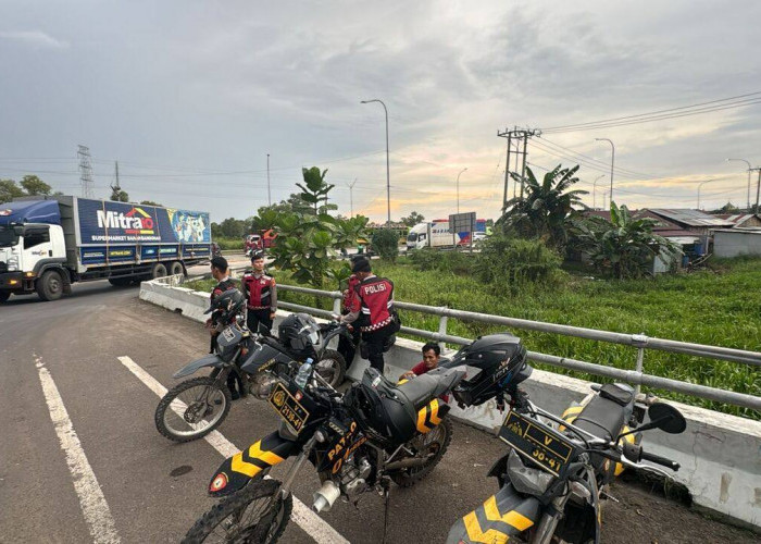
[[[541,240],[495,234],[484,240],[475,263],[483,282],[516,287],[531,283],[559,285],[562,258]]]

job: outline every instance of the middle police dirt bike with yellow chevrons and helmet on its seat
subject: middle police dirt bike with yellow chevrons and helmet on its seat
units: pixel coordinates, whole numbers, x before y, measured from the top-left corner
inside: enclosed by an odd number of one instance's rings
[[[291,484],[305,461],[320,475],[313,508],[329,510],[338,497],[357,504],[363,493],[388,497],[390,482],[407,487],[425,478],[447,452],[452,428],[440,396],[464,376],[462,369],[437,369],[394,384],[375,369],[344,394],[312,372],[286,374],[270,404],[279,429],[236,454],[214,473],[209,493],[222,497],[188,531],[185,543],[274,543],[292,507]],[[270,469],[295,460],[283,481]]]

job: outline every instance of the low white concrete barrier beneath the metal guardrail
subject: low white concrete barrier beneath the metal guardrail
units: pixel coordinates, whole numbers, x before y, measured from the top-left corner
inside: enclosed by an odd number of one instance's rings
[[[141,284],[140,298],[172,311],[182,310],[183,316],[196,321],[207,319],[203,311],[209,304],[208,293],[153,281]],[[275,324],[288,314],[278,310]],[[396,380],[420,362],[422,346],[421,342],[399,338],[386,354],[386,376]],[[367,366],[358,354],[348,376],[360,379]],[[572,401],[587,395],[590,385],[590,382],[535,369],[525,390],[534,403],[560,415]],[[687,430],[677,435],[648,431],[644,434],[645,448],[682,465],[674,479],[687,486],[695,505],[760,531],[761,422],[681,403],[671,404],[687,419]],[[464,410],[453,406],[451,413],[458,420],[488,431],[496,430],[504,418],[494,400]]]

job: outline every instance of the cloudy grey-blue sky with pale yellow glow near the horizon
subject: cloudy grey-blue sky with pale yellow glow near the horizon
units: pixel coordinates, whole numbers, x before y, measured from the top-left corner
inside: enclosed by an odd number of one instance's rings
[[[497,217],[506,127],[549,127],[714,102],[703,114],[531,140],[538,174],[582,163],[636,208],[745,206],[761,165],[761,2],[0,0],[0,178],[35,173],[95,194],[120,163],[134,200],[252,215],[328,169],[334,201],[386,217]],[[750,100],[749,100],[750,99]],[[676,110],[689,112],[690,110]],[[636,118],[635,118],[636,120]],[[615,124],[615,123],[614,123]],[[581,153],[574,154],[574,153]],[[512,184],[510,188],[512,196]],[[751,201],[756,199],[756,177]]]

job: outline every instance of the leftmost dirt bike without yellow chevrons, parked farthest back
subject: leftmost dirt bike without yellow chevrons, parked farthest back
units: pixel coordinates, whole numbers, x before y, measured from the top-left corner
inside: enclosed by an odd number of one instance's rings
[[[192,378],[170,390],[159,401],[154,422],[159,432],[175,442],[205,436],[220,426],[229,413],[232,394],[227,379],[235,374],[241,392],[267,399],[280,374],[294,374],[305,360],[317,361],[315,370],[332,386],[344,382],[346,361],[334,349],[332,338],[349,335],[337,323],[317,325],[305,313],[287,317],[272,337],[265,327],[249,331],[245,324],[246,299],[237,289],[223,293],[207,310],[216,311],[220,330],[214,353],[189,362],[174,378],[185,378],[209,368],[208,376]],[[311,337],[309,343],[302,337]]]

